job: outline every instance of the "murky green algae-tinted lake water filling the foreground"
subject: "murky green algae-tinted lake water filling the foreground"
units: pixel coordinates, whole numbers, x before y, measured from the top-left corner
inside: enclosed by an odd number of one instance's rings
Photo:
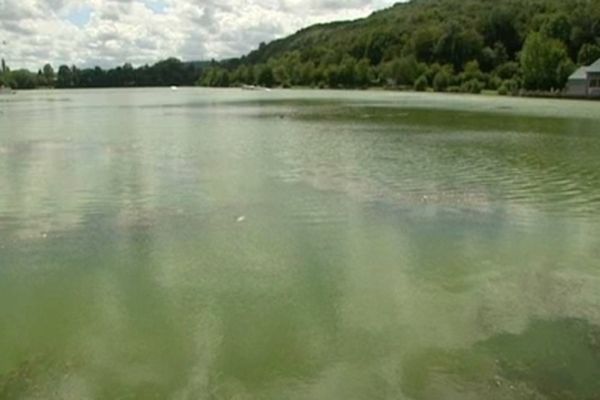
[[[600,103],[0,97],[0,399],[599,396]]]

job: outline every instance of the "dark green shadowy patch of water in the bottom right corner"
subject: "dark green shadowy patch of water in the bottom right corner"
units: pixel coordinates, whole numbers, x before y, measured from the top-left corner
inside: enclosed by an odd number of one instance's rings
[[[600,393],[600,327],[580,319],[534,320],[465,350],[429,349],[406,362],[415,399],[594,399]]]

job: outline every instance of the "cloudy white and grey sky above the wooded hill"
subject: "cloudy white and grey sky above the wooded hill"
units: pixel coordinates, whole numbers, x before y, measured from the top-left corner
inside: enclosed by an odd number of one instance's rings
[[[12,69],[223,59],[396,1],[0,0],[0,57]]]

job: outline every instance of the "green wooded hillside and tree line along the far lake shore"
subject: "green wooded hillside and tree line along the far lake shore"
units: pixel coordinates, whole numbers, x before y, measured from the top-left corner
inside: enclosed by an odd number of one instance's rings
[[[558,92],[600,58],[600,0],[412,0],[319,24],[237,59],[108,71],[50,66],[5,85],[368,88],[500,94]],[[4,71],[5,69],[3,69]]]

